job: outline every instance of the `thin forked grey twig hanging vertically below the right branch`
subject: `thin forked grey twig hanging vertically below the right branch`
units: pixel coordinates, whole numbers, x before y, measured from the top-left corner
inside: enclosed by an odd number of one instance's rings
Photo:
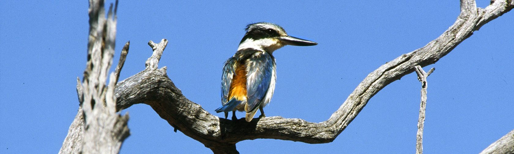
[[[427,77],[435,68],[432,68],[427,72],[417,65],[414,67],[418,76],[419,82],[421,82],[421,101],[419,103],[419,119],[418,119],[418,131],[416,134],[416,154],[423,153],[423,128],[425,123],[425,110],[427,109]]]

